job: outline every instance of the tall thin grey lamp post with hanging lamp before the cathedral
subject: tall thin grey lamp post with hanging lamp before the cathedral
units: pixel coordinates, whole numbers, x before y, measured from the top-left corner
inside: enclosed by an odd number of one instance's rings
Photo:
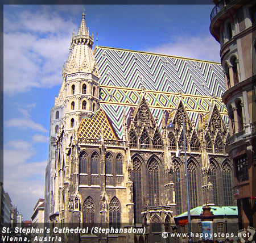
[[[172,109],[172,111],[179,109]],[[183,122],[183,139],[184,139],[184,157],[185,157],[185,178],[186,178],[186,189],[187,189],[187,210],[188,210],[188,242],[192,243],[192,237],[191,237],[191,216],[190,216],[190,200],[189,200],[189,188],[188,188],[188,164],[187,164],[187,153],[186,153],[186,136],[185,136],[185,121],[184,121],[184,115],[181,112],[182,115],[182,122]],[[167,130],[169,132],[174,131],[174,125],[170,122],[167,125]]]

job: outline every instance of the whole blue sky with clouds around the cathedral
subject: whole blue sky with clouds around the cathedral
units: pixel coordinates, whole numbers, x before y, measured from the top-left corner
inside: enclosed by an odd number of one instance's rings
[[[98,45],[220,61],[209,33],[213,5],[84,7]],[[49,113],[81,12],[80,5],[4,5],[4,188],[26,220],[44,197]]]

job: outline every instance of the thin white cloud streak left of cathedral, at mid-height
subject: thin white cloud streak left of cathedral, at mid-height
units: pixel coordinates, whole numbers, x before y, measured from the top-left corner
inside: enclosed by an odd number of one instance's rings
[[[41,124],[33,122],[31,119],[23,119],[23,118],[14,118],[5,121],[6,127],[18,127],[20,129],[33,129],[41,132],[47,132],[47,129],[44,128]]]

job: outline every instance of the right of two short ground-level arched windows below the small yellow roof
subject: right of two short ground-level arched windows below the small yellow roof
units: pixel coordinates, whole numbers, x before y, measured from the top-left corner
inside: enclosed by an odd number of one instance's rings
[[[113,198],[109,203],[109,227],[120,227],[121,208],[117,198]]]

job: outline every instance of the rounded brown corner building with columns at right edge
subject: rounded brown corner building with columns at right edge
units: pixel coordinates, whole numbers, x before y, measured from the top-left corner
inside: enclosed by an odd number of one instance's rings
[[[240,228],[256,228],[255,157],[255,1],[213,1],[210,32],[220,43],[228,108],[230,144],[226,152],[234,167],[233,195]]]

